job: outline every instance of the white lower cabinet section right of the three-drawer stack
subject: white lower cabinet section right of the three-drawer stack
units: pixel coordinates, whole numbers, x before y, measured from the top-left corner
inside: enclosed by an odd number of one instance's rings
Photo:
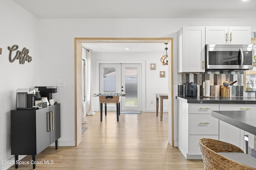
[[[220,110],[243,110],[249,111],[254,110],[256,111],[255,104],[220,104]],[[233,125],[230,125],[224,121],[219,121],[220,131],[219,131],[219,140],[231,143],[240,147],[244,150],[244,131]]]

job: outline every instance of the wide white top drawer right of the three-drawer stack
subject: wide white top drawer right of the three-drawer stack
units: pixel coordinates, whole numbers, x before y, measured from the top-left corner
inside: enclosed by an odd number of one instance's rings
[[[220,104],[220,110],[256,110],[256,104]]]

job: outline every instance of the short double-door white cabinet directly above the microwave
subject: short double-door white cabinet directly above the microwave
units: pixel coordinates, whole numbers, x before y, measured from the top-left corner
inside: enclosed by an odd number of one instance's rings
[[[205,44],[251,44],[251,27],[205,27]]]

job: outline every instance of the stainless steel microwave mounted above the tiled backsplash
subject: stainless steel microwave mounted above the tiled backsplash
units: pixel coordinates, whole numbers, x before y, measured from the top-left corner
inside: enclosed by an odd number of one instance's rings
[[[253,68],[253,44],[205,45],[206,70],[249,70]]]

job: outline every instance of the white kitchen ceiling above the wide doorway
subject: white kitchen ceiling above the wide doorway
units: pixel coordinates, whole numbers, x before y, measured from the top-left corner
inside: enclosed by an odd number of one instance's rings
[[[256,0],[13,0],[37,18],[256,18]]]

